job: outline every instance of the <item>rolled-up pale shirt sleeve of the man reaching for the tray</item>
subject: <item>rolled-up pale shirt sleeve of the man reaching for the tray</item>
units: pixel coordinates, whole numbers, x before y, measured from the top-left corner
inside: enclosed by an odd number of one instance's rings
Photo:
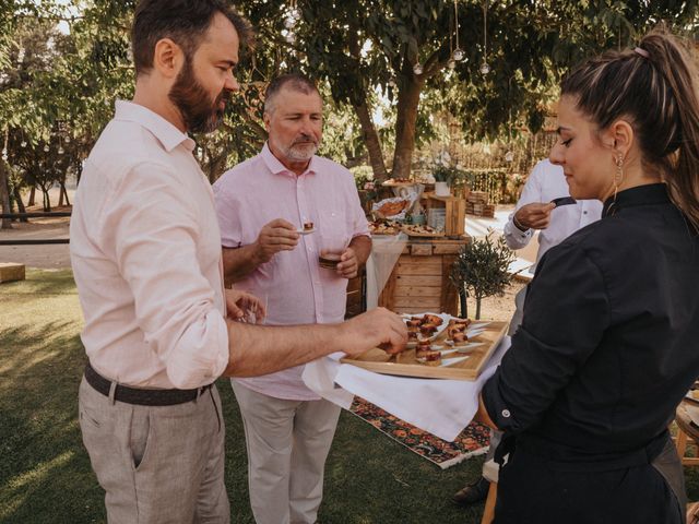
[[[213,382],[228,362],[228,331],[202,274],[201,224],[168,168],[140,164],[103,209],[104,249],[114,250],[133,295],[135,323],[176,388]],[[220,247],[218,247],[220,249]]]

